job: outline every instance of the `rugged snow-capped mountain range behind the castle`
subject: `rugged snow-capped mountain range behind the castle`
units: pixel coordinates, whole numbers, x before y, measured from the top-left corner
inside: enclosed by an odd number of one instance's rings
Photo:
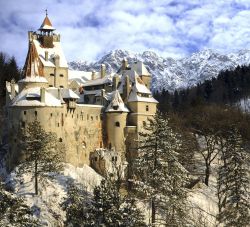
[[[126,50],[114,50],[97,62],[70,62],[69,66],[74,70],[99,71],[100,65],[105,64],[110,73],[118,70],[123,58],[127,58],[128,62],[136,60],[144,62],[152,74],[152,90],[173,91],[217,77],[220,71],[231,70],[238,65],[249,65],[250,50],[223,55],[214,50],[206,49],[178,60],[160,57],[152,51],[139,54]]]

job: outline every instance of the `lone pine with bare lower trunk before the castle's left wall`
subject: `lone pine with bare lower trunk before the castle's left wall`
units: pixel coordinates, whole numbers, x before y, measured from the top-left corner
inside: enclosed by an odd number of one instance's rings
[[[21,131],[19,145],[22,154],[19,173],[32,174],[35,180],[35,194],[38,195],[39,178],[49,172],[62,170],[64,146],[59,146],[56,135],[46,132],[36,120]]]

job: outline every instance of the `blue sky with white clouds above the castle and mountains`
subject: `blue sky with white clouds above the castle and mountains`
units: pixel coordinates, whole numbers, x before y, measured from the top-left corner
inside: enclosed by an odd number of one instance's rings
[[[173,58],[250,49],[250,0],[0,0],[0,51],[20,66],[27,31],[40,27],[46,8],[68,61],[114,49]]]

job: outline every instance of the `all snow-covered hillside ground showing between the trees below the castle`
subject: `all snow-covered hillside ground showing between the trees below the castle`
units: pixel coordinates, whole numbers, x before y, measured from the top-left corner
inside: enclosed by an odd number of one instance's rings
[[[203,174],[204,167],[202,157],[197,154],[197,173]],[[203,226],[216,226],[217,197],[216,197],[216,168],[217,163],[212,165],[212,174],[209,181],[209,187],[202,181],[196,184],[189,192],[190,216],[196,219]],[[98,185],[102,177],[91,167],[84,165],[82,168],[65,164],[63,173],[55,174],[51,178],[39,182],[39,196],[34,193],[34,181],[29,174],[17,176],[12,172],[7,182],[14,192],[24,198],[36,217],[38,217],[44,226],[64,226],[65,212],[61,204],[66,198],[67,185],[71,181],[81,183],[89,192]],[[146,201],[140,201],[138,207],[145,215],[145,221],[150,220],[150,204]],[[202,225],[201,225],[202,226]]]

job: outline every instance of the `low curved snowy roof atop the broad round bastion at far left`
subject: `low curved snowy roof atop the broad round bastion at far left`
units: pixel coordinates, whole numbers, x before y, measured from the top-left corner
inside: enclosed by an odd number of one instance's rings
[[[61,106],[61,101],[45,90],[45,102],[40,101],[40,87],[23,89],[10,106]]]

